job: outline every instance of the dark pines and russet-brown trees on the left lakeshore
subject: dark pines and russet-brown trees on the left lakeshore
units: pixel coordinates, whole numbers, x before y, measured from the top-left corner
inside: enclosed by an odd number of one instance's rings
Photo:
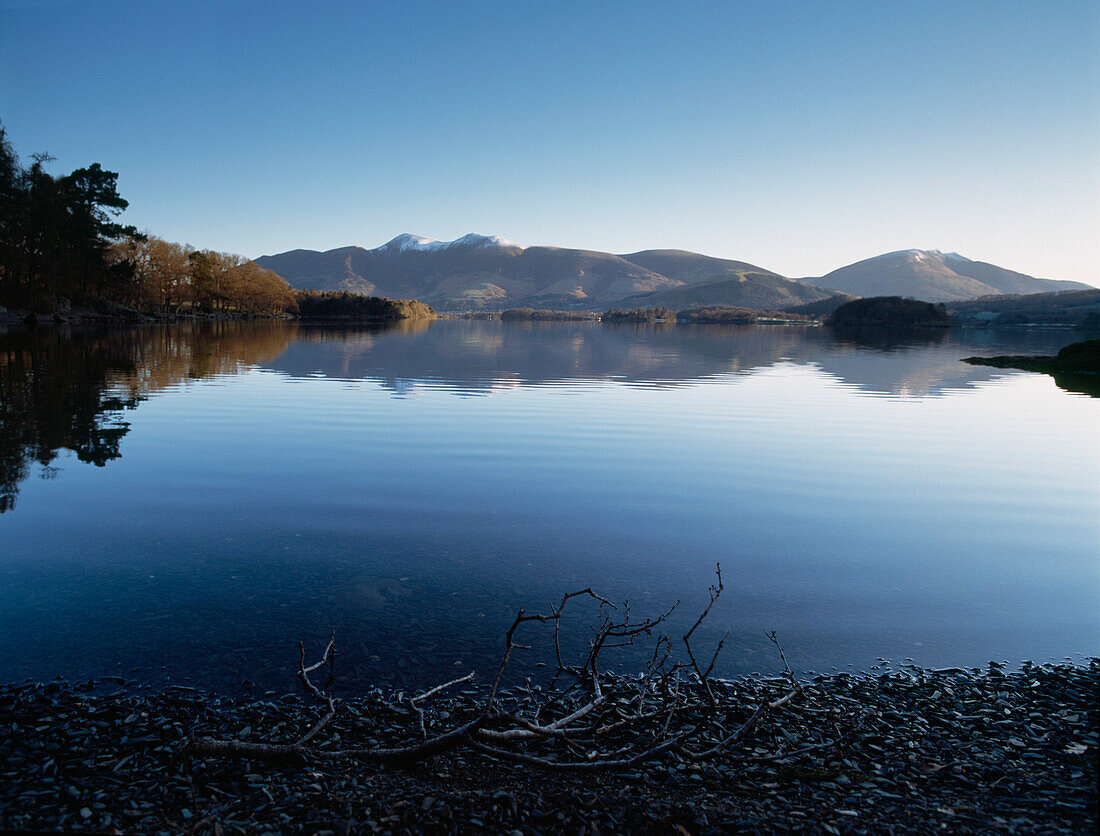
[[[173,244],[117,222],[129,205],[99,163],[54,176],[22,166],[0,125],[0,305],[57,311],[105,302],[144,314],[294,309],[278,275],[248,258]]]

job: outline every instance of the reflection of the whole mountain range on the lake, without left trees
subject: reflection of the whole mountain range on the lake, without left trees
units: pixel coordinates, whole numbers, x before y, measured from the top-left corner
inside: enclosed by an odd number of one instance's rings
[[[960,358],[1050,352],[1064,342],[1053,332],[473,320],[400,331],[302,327],[266,367],[293,377],[376,381],[395,395],[420,387],[485,395],[586,381],[685,386],[789,362],[815,366],[864,394],[936,397],[1004,374]]]

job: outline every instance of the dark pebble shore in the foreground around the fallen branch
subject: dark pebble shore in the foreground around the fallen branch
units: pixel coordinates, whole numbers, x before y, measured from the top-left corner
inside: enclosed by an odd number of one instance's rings
[[[0,686],[0,827],[96,833],[1094,833],[1100,662],[1020,670],[882,664],[816,676],[747,745],[703,763],[547,772],[460,750],[406,770],[178,757],[188,735],[284,741],[317,706],[100,680]],[[724,683],[730,722],[784,683]],[[433,700],[430,727],[477,710]],[[411,712],[409,713],[411,714]],[[327,730],[415,739],[381,692]],[[854,729],[854,730],[853,730]],[[783,760],[768,757],[844,739]],[[845,736],[845,734],[847,736]],[[328,745],[328,744],[327,744]],[[739,757],[738,757],[739,756]]]

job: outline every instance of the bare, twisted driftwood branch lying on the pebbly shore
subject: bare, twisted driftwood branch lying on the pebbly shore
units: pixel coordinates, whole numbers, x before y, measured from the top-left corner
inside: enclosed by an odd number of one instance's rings
[[[306,662],[306,649],[298,647],[297,675],[305,692],[320,707],[320,716],[295,740],[286,743],[248,741],[193,736],[184,755],[194,757],[248,758],[255,760],[318,761],[356,759],[383,766],[407,766],[455,749],[464,749],[494,760],[521,763],[553,771],[613,771],[631,769],[646,761],[680,758],[704,761],[719,755],[733,760],[781,760],[820,750],[835,750],[847,735],[821,740],[802,748],[777,747],[777,751],[760,755],[760,740],[755,740],[754,754],[733,751],[758,735],[768,718],[789,710],[803,694],[803,689],[787,662],[787,656],[776,634],[766,634],[779,651],[788,684],[769,686],[771,696],[752,706],[735,705],[726,697],[728,689],[713,672],[726,636],[718,642],[710,662],[703,667],[696,659],[692,637],[707,618],[724,584],[722,569],[716,568],[716,582],[710,587],[710,601],[692,624],[682,642],[686,662],[672,657],[672,641],[657,634],[671,616],[673,605],[658,616],[635,619],[628,604],[622,607],[596,594],[591,587],[571,592],[550,605],[547,613],[520,609],[504,637],[504,649],[495,674],[480,701],[464,704],[464,718],[438,718],[428,707],[429,701],[446,690],[474,680],[471,671],[448,682],[405,697],[383,703],[380,711],[396,712],[410,718],[407,737],[396,746],[359,746],[354,733],[345,729],[340,744],[327,734],[340,711],[332,694],[336,679],[337,644],[333,635],[320,658]],[[587,648],[575,663],[569,663],[562,650],[562,617],[570,602],[588,601],[597,608],[597,620],[591,630]],[[679,604],[679,602],[678,602]],[[503,688],[515,654],[528,649],[519,636],[531,629],[552,628],[553,653],[558,663],[554,675],[564,673],[573,680],[569,686],[540,689]],[[616,648],[636,641],[652,642],[645,671],[636,678],[605,672],[604,656]],[[328,681],[318,685],[310,674],[326,669]],[[521,694],[519,696],[518,694]],[[723,702],[725,697],[725,702]],[[358,707],[362,714],[363,706]],[[734,717],[739,716],[736,722]],[[730,725],[732,724],[732,725]],[[444,727],[441,730],[439,726]],[[782,729],[776,726],[774,735]],[[848,735],[853,734],[851,732]],[[371,741],[373,743],[373,741]]]

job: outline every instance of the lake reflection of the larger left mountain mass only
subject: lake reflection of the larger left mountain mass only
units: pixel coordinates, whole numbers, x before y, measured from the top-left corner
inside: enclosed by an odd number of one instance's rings
[[[681,386],[770,365],[802,339],[788,329],[481,320],[300,333],[268,369],[375,380],[395,393],[426,384],[460,394],[583,381]]]

